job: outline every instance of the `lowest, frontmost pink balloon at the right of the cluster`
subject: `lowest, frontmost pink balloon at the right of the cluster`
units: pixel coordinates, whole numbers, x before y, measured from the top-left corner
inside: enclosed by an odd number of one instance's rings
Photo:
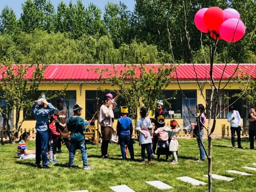
[[[236,27],[237,26],[237,27]],[[235,35],[234,35],[235,32]],[[236,42],[242,39],[245,34],[243,21],[239,19],[228,19],[220,26],[220,36],[227,42]],[[234,36],[234,39],[233,39]],[[232,41],[233,39],[233,41]]]

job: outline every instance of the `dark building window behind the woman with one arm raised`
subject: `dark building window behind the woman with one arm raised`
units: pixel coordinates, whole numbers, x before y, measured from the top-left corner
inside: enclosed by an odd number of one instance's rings
[[[107,92],[103,91],[85,91],[85,118],[92,118],[94,114],[97,112],[97,100],[96,98],[100,98],[99,100],[99,109],[101,105],[102,98],[107,94]],[[116,96],[116,92],[111,92],[113,97]],[[116,107],[113,109],[114,118],[118,119],[121,117],[120,107],[125,105],[125,101],[122,96],[118,98],[116,101]],[[97,118],[97,115],[95,115]]]

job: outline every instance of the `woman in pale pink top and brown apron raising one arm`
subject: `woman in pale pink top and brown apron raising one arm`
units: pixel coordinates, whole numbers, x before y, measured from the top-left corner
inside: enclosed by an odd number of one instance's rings
[[[117,96],[113,98],[112,94],[108,93],[103,97],[100,111],[99,111],[99,124],[102,135],[101,144],[101,155],[103,158],[108,158],[108,143],[112,137],[112,123],[114,122],[114,112],[113,108],[116,107],[116,100],[120,96],[120,92],[117,91]]]

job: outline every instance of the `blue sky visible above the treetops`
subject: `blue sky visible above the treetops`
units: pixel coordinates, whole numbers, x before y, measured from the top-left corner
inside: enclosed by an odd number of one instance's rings
[[[52,4],[54,4],[55,10],[57,9],[57,5],[60,3],[61,0],[50,0]],[[64,3],[68,4],[70,0],[63,0]],[[92,2],[100,7],[102,12],[104,12],[104,6],[107,4],[108,1],[115,2],[119,4],[121,1],[122,3],[126,4],[129,11],[133,11],[133,7],[135,4],[135,0],[82,0],[85,6],[87,6],[88,3]],[[22,11],[21,9],[21,3],[24,3],[25,0],[0,0],[0,10],[2,11],[5,5],[8,5],[11,7],[17,18],[20,18],[20,13]],[[72,0],[73,3],[76,3],[76,0]]]

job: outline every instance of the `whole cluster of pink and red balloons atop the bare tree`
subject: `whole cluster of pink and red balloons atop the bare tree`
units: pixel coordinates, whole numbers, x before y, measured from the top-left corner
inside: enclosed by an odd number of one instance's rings
[[[245,34],[245,26],[238,11],[232,8],[203,8],[196,12],[195,25],[200,31],[210,33],[214,39],[227,42],[239,41]]]

